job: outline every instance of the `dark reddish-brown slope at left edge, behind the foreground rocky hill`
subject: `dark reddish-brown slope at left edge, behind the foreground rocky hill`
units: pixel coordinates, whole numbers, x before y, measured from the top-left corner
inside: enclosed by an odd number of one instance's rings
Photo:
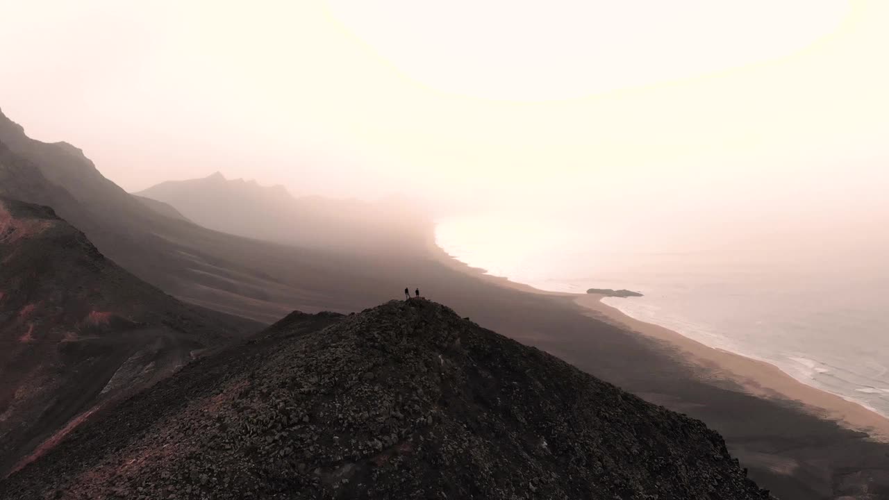
[[[0,477],[105,403],[259,326],[185,305],[51,208],[0,198]]]

